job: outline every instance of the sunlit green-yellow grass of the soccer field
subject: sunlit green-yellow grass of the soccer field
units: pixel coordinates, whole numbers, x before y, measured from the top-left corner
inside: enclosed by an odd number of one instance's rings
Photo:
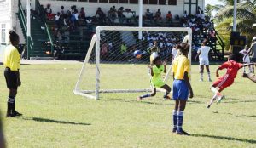
[[[226,100],[207,109],[211,83],[200,83],[198,67],[193,65],[195,98],[189,100],[183,124],[192,134],[188,137],[171,133],[174,102],[160,100],[161,93],[143,101],[136,100],[139,94],[102,94],[101,100],[73,95],[81,65],[21,65],[17,109],[24,116],[16,118],[4,117],[8,89],[0,75],[0,108],[10,148],[256,147],[255,83],[241,78],[241,72],[236,83],[224,90]],[[134,66],[102,65],[102,87],[148,87],[146,65],[131,71]],[[211,67],[212,79],[216,68]],[[91,88],[93,73],[87,75]]]

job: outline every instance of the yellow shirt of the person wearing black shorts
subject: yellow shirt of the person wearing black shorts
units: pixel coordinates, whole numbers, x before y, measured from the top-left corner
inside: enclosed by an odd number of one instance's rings
[[[11,71],[18,71],[20,69],[20,53],[13,45],[9,45],[4,50],[3,65]]]

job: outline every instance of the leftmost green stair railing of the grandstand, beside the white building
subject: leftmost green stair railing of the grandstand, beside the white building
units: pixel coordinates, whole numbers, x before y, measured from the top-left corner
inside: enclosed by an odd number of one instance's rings
[[[32,54],[33,54],[32,48],[33,48],[34,43],[33,43],[32,37],[27,37],[26,15],[24,14],[24,11],[23,11],[24,9],[22,8],[22,4],[21,4],[20,0],[19,0],[19,4],[18,5],[19,5],[19,13],[18,13],[18,15],[20,15],[20,21],[21,21],[20,25],[21,25],[21,27],[25,31],[26,45],[29,44],[29,47],[27,47],[27,59],[29,59],[32,56]]]

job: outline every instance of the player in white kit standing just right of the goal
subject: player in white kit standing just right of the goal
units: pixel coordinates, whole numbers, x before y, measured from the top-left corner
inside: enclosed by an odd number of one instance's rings
[[[200,65],[200,73],[201,73],[200,81],[203,81],[204,65],[206,65],[207,73],[208,73],[208,81],[212,82],[210,69],[209,69],[209,58],[208,58],[210,49],[211,48],[207,46],[207,40],[204,40],[203,43],[201,44],[201,48],[197,50],[197,54],[195,56],[195,60],[199,56],[199,65]]]

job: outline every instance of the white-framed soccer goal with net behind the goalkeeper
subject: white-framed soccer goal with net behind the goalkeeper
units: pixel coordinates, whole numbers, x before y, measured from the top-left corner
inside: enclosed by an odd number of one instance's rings
[[[98,100],[104,93],[150,92],[147,65],[151,53],[148,48],[159,48],[160,58],[168,64],[168,71],[163,77],[168,83],[171,81],[172,48],[182,42],[191,45],[190,28],[98,26],[73,94]],[[135,56],[136,51],[141,55]]]

